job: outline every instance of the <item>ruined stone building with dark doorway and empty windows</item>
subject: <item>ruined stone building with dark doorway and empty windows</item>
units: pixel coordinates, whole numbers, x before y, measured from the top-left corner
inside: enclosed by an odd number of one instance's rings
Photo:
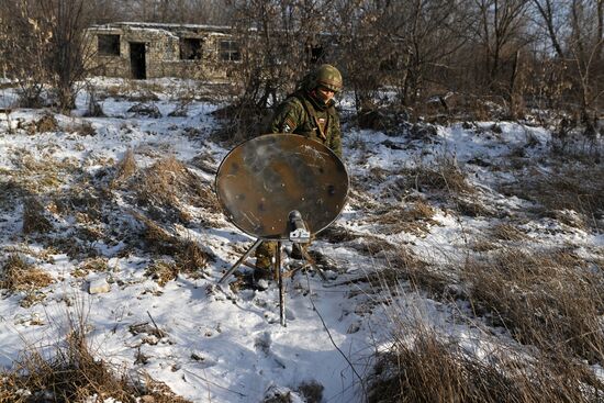
[[[241,59],[231,32],[228,26],[121,22],[91,26],[87,34],[99,75],[220,79]]]

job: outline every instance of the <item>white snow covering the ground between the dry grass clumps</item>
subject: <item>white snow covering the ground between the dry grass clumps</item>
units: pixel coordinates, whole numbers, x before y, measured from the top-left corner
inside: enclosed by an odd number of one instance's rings
[[[120,80],[96,79],[97,86],[122,86]],[[192,86],[174,80],[164,86]],[[7,92],[12,97],[12,92]],[[102,100],[105,117],[80,117],[88,99],[78,99],[72,116],[58,116],[60,130],[30,134],[21,128],[37,121],[43,111],[14,110],[8,117],[0,115],[0,179],[5,184],[19,175],[35,175],[24,169],[27,159],[42,163],[69,161],[74,170],[92,177],[103,167],[114,166],[125,153],[134,153],[139,167],[148,167],[161,157],[172,155],[188,164],[204,182],[213,176],[195,167],[195,157],[206,156],[214,168],[228,152],[210,134],[217,124],[211,112],[219,105],[210,101],[192,101],[187,116],[169,117],[177,98],[160,94],[154,103],[163,117],[135,115],[127,110],[137,103],[124,98]],[[346,104],[343,102],[343,104]],[[92,125],[96,135],[82,135],[77,127],[82,122]],[[10,130],[9,130],[10,125]],[[496,130],[494,127],[496,126]],[[530,158],[547,153],[550,133],[540,127],[518,123],[482,122],[471,125],[438,126],[435,133],[421,136],[385,135],[345,125],[345,163],[359,182],[371,175],[385,172],[378,180],[368,179],[363,189],[372,203],[404,208],[405,199],[389,195],[404,175],[404,169],[430,166],[443,159],[455,159],[469,172],[469,180],[481,189],[477,197],[486,206],[504,213],[523,211],[529,202],[502,195],[495,184],[514,179],[503,169],[511,153],[525,149]],[[68,189],[74,177],[59,172],[57,188]],[[373,177],[371,177],[373,178]],[[33,179],[34,182],[37,180]],[[41,191],[48,186],[40,184]],[[2,189],[7,189],[3,187]],[[55,189],[56,190],[56,189]],[[118,192],[119,193],[119,192]],[[406,194],[406,193],[405,193]],[[411,193],[410,193],[411,194]],[[409,195],[409,194],[407,194]],[[125,228],[134,231],[128,213],[132,208],[125,193],[114,194]],[[359,197],[351,194],[358,204]],[[124,199],[125,198],[125,199]],[[360,203],[360,202],[359,202]],[[0,248],[3,255],[20,251],[37,267],[48,272],[55,282],[42,290],[44,298],[31,306],[22,306],[23,294],[0,300],[0,366],[10,368],[26,345],[52,346],[65,334],[66,313],[81,310],[90,326],[89,339],[98,357],[132,369],[147,371],[152,378],[166,382],[175,393],[193,402],[259,402],[271,388],[292,391],[303,383],[324,387],[324,402],[361,401],[359,376],[366,376],[376,350],[388,347],[393,331],[390,315],[421,317],[451,337],[463,340],[469,349],[489,349],[490,337],[471,323],[455,320],[459,306],[449,306],[429,296],[412,292],[401,283],[395,296],[384,290],[370,290],[366,284],[346,280],[365,276],[383,267],[383,261],[361,254],[353,244],[333,243],[320,238],[311,249],[326,256],[337,272],[331,272],[327,283],[313,272],[298,273],[287,281],[287,327],[279,325],[279,296],[271,284],[267,290],[234,292],[220,288],[216,281],[254,239],[238,232],[223,216],[213,216],[221,225],[209,227],[193,220],[184,228],[175,227],[209,248],[215,255],[205,276],[179,275],[164,287],[146,275],[146,268],[158,259],[144,250],[127,249],[125,242],[108,245],[90,242],[90,249],[107,258],[103,272],[89,272],[83,279],[75,272],[82,261],[49,248],[35,236],[22,234],[23,200],[0,203]],[[203,211],[191,208],[193,214]],[[409,246],[422,260],[434,265],[450,265],[462,259],[460,245],[472,236],[489,231],[491,219],[460,216],[446,208],[437,208],[424,231],[382,235],[367,216],[368,210],[349,204],[335,227],[349,233],[377,236],[392,245]],[[545,219],[544,219],[545,220]],[[57,219],[59,231],[70,234],[74,221]],[[570,244],[583,256],[602,257],[604,240],[584,230],[558,228],[558,222],[526,222],[524,230],[535,243]],[[115,228],[123,231],[122,228]],[[71,235],[76,236],[76,234]],[[118,239],[119,237],[116,237]],[[243,268],[242,271],[249,269]],[[90,294],[88,283],[105,281],[110,292]],[[387,302],[389,300],[390,302]],[[138,326],[138,327],[137,327]],[[147,327],[145,327],[147,326]],[[166,332],[153,335],[148,326]],[[152,327],[152,329],[153,329]],[[147,331],[134,332],[136,328]],[[507,337],[502,329],[493,331]]]

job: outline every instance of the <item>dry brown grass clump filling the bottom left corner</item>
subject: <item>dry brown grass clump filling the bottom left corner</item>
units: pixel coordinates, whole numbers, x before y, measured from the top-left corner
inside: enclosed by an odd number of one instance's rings
[[[188,403],[146,374],[118,373],[108,362],[93,356],[85,337],[85,325],[70,326],[65,343],[57,345],[51,357],[31,347],[11,372],[0,374],[3,378],[0,402],[68,403],[88,401],[97,395],[101,401],[123,403]]]

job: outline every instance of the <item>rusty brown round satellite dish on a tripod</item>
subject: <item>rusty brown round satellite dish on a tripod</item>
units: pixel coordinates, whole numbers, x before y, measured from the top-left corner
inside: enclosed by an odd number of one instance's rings
[[[216,173],[219,201],[241,231],[261,239],[288,240],[289,214],[301,213],[316,234],[346,202],[348,172],[325,145],[297,134],[266,134],[239,144]]]

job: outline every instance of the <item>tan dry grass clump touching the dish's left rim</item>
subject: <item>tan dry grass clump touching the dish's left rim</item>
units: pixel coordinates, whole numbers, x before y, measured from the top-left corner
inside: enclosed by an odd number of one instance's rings
[[[220,212],[212,189],[175,157],[158,160],[144,170],[137,191],[144,205],[181,209],[181,203]]]

